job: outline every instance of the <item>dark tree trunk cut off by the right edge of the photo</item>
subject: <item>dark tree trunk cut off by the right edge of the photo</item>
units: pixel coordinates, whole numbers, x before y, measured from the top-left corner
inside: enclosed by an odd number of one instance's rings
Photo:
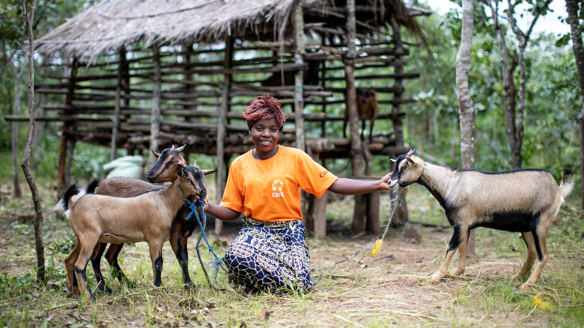
[[[582,47],[582,30],[578,20],[578,1],[566,0],[566,11],[568,11],[568,22],[572,30],[572,50],[576,60],[576,71],[580,82],[580,105],[582,111],[578,116],[579,145],[580,145],[580,194],[582,197],[582,208],[584,208],[584,48]]]

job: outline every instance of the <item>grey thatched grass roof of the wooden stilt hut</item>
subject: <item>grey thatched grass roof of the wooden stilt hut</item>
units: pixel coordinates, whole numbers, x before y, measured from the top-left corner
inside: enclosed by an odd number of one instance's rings
[[[357,5],[382,6],[400,23],[419,32],[401,0],[357,0]],[[79,12],[38,41],[45,55],[61,51],[95,59],[109,50],[144,42],[178,43],[183,40],[216,42],[245,29],[290,25],[294,0],[105,0]],[[304,0],[304,8],[325,9],[331,1]],[[373,13],[371,13],[373,15]],[[386,13],[373,15],[387,19]],[[383,17],[385,16],[385,17]],[[259,32],[260,33],[260,32]],[[275,35],[275,33],[273,33]]]

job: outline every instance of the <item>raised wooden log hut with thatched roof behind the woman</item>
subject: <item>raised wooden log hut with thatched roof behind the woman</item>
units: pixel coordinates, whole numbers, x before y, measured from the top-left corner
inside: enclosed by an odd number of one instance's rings
[[[50,57],[49,68],[68,67],[66,78],[47,69],[37,86],[65,96],[63,103],[45,104],[45,116],[37,118],[62,121],[58,189],[65,188],[75,141],[109,145],[112,159],[120,148],[133,154],[187,144],[187,153],[217,155],[219,201],[231,155],[253,146],[241,110],[263,94],[276,96],[290,113],[281,144],[316,160],[350,158],[353,177],[371,178],[372,155],[408,150],[401,106],[414,100],[402,97],[402,81],[419,74],[404,72],[408,49],[400,27],[419,34],[415,16],[428,14],[401,0],[93,5],[37,43]],[[376,88],[377,120],[393,123],[393,131],[377,130],[373,142],[359,137],[357,85]],[[340,132],[345,104],[350,139]],[[320,135],[305,133],[318,124]],[[324,198],[309,198],[305,214],[320,238],[326,234]],[[353,232],[379,232],[378,211],[379,194],[359,196]]]

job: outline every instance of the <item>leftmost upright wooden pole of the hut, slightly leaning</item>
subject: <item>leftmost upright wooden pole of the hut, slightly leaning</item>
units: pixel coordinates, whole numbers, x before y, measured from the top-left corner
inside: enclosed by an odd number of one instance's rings
[[[69,83],[67,86],[67,95],[65,96],[64,105],[70,107],[73,103],[73,92],[75,90],[75,82],[77,82],[77,68],[79,65],[79,61],[77,58],[73,59],[73,63],[71,65],[71,74],[69,74]],[[62,136],[61,136],[61,144],[59,147],[59,165],[57,171],[57,196],[61,198],[63,192],[67,188],[67,183],[65,181],[65,160],[67,159],[67,132],[69,127],[71,127],[71,112],[70,108],[64,110],[63,114],[63,127],[62,127]]]

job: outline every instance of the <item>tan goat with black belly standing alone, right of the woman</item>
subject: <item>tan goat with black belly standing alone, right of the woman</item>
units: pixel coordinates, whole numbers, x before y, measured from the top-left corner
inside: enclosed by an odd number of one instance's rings
[[[391,190],[419,183],[432,193],[446,211],[454,227],[446,246],[442,266],[430,278],[440,280],[446,275],[450,259],[458,249],[458,267],[453,275],[464,273],[468,233],[479,226],[509,232],[521,232],[527,245],[527,259],[519,273],[529,274],[522,289],[535,285],[550,257],[547,250],[548,229],[558,214],[564,198],[572,191],[571,172],[564,172],[561,184],[546,170],[523,169],[499,173],[477,170],[457,170],[426,163],[414,156],[415,149],[397,159],[388,185]]]

